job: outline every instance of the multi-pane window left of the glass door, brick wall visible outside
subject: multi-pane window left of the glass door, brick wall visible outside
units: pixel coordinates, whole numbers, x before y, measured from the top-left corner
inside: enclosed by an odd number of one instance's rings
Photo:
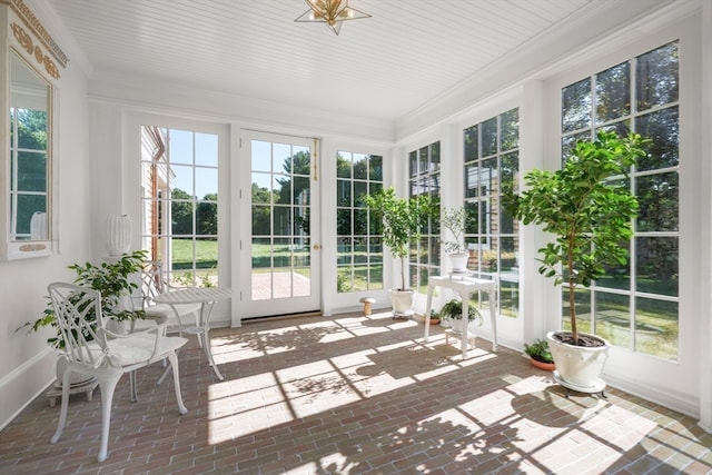
[[[218,137],[141,128],[142,239],[171,284],[218,284]]]

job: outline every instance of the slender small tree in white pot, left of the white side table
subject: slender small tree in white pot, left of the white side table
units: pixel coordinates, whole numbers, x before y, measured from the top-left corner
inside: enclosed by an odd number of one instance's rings
[[[408,245],[419,239],[421,228],[434,216],[433,200],[429,196],[397,198],[395,189],[390,187],[367,196],[366,205],[383,224],[383,244],[390,249],[393,257],[400,259],[400,287],[390,289],[393,313],[395,316],[409,318],[413,316],[415,290],[407,288],[405,284]]]

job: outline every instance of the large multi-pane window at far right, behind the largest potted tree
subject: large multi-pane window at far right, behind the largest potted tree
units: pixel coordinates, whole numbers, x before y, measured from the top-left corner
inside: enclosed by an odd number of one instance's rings
[[[634,238],[623,244],[630,261],[607,269],[591,289],[577,290],[584,309],[578,328],[670,360],[679,354],[678,52],[678,42],[671,42],[566,86],[561,127],[563,160],[577,139],[602,129],[652,140],[649,156],[630,174],[640,204]]]

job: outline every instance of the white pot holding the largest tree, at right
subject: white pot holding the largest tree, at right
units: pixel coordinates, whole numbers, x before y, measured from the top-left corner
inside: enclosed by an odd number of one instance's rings
[[[609,358],[611,344],[601,337],[587,335],[602,340],[604,345],[597,347],[567,345],[554,338],[555,333],[546,334],[546,339],[556,365],[557,380],[574,390],[584,393],[602,390],[605,383],[601,379],[601,374]]]

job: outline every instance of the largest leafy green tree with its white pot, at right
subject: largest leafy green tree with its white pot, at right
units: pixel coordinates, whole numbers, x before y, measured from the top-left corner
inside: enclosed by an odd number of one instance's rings
[[[636,133],[621,138],[601,131],[596,140],[577,141],[560,170],[532,170],[524,176],[525,191],[505,196],[505,207],[524,225],[542,225],[554,235],[537,260],[540,274],[566,289],[570,329],[546,337],[554,376],[568,389],[603,394],[605,388],[600,377],[610,344],[578,331],[575,295],[609,266],[627,261],[637,200],[626,178],[647,142]]]

